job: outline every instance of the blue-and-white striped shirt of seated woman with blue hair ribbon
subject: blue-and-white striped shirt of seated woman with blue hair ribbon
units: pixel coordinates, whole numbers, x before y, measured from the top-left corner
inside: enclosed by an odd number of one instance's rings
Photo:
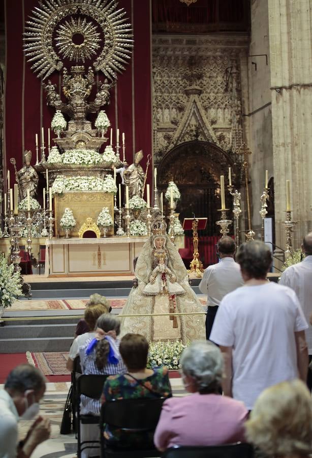
[[[85,351],[91,339],[85,342],[85,345],[79,347],[80,365],[82,373],[85,375],[116,375],[126,374],[128,369],[120,357],[118,364],[107,363],[103,369],[99,369],[96,364],[96,347],[93,351],[86,355]],[[116,339],[116,346],[119,349],[120,339]],[[100,399],[92,399],[90,397],[80,396],[80,412],[83,415],[94,414],[99,415],[101,410]]]

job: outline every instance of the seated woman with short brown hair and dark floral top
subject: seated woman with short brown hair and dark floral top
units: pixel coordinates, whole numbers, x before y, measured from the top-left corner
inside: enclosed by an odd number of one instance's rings
[[[104,384],[102,403],[111,399],[172,396],[168,369],[166,367],[146,368],[148,342],[143,335],[124,335],[120,341],[119,351],[128,373],[108,377]],[[116,428],[109,430],[106,426],[104,436],[110,445],[118,447],[139,448],[150,447],[153,444],[153,432],[138,434],[135,431],[127,431],[126,433]]]

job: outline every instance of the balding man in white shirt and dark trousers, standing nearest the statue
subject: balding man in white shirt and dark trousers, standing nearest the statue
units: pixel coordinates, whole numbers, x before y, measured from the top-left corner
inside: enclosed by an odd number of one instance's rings
[[[239,265],[234,261],[236,244],[224,236],[218,242],[220,263],[205,269],[199,289],[207,294],[206,339],[209,339],[215,314],[224,296],[244,284]]]

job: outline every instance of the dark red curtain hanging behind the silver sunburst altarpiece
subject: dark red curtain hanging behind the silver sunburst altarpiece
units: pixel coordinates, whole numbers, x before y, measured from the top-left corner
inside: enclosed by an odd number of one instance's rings
[[[138,5],[138,3],[140,5]],[[21,0],[16,8],[5,0],[6,26],[6,74],[5,74],[5,166],[14,173],[9,159],[15,157],[17,168],[22,165],[25,149],[33,152],[32,163],[36,162],[35,134],[44,127],[45,144],[47,129],[55,110],[46,105],[45,92],[40,79],[24,60],[22,33],[25,20],[32,10],[39,6],[38,0]],[[133,155],[142,149],[145,156],[151,153],[151,55],[150,55],[150,4],[120,0],[119,6],[127,11],[134,31],[134,52],[126,71],[118,75],[116,90],[111,91],[111,103],[106,106],[114,138],[117,127],[126,135],[126,160],[133,162]],[[100,76],[101,77],[101,76]],[[59,74],[50,77],[53,83],[60,83]],[[47,82],[47,81],[45,81]],[[40,137],[40,135],[39,135]],[[51,138],[54,134],[51,132]],[[115,142],[115,140],[114,140]],[[53,141],[51,140],[51,146]],[[119,151],[122,158],[122,151]],[[47,156],[47,151],[46,151]],[[6,173],[6,170],[5,170]],[[13,178],[13,176],[12,176]],[[148,182],[151,180],[151,168]],[[14,180],[11,180],[11,187]]]

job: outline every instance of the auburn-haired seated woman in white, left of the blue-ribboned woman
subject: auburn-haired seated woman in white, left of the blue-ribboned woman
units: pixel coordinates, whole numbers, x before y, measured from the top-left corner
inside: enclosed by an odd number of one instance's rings
[[[92,304],[89,305],[85,311],[84,311],[84,320],[85,323],[89,329],[89,331],[85,332],[84,334],[78,335],[75,340],[73,341],[70,351],[69,351],[69,357],[66,362],[66,367],[68,370],[71,372],[73,371],[74,367],[74,359],[76,356],[78,356],[79,352],[79,347],[84,346],[85,342],[89,340],[90,338],[95,337],[96,332],[95,332],[95,326],[96,322],[99,317],[103,313],[107,313],[108,309],[106,305],[103,304]]]

